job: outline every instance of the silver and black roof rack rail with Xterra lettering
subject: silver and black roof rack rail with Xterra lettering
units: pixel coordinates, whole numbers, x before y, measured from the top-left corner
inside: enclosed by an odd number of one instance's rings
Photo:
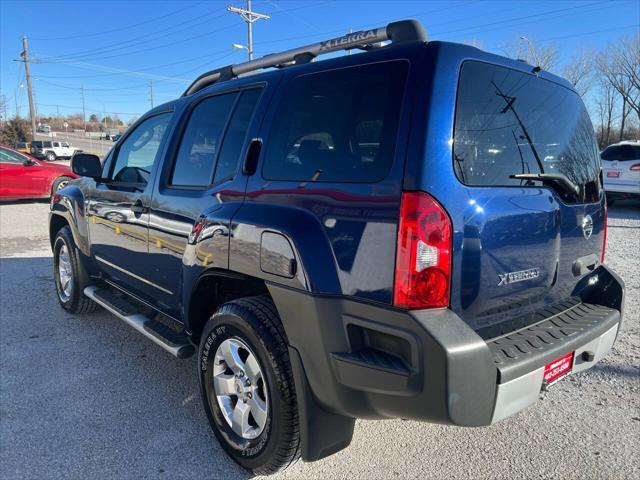
[[[280,53],[265,55],[264,57],[250,60],[236,65],[227,65],[216,70],[200,75],[182,96],[187,96],[202,90],[219,81],[236,78],[243,73],[253,72],[262,68],[282,67],[291,64],[308,63],[318,55],[336,52],[339,50],[351,50],[355,48],[368,49],[386,40],[392,43],[426,42],[427,34],[422,24],[417,20],[402,20],[392,22],[386,27],[361,30],[348,33],[342,37],[332,38],[304,47],[286,50]]]

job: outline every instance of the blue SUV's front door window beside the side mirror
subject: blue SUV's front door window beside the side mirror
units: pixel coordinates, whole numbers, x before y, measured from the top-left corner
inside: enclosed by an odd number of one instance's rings
[[[170,113],[147,118],[131,132],[116,152],[112,179],[115,182],[149,182],[151,168],[171,120]]]

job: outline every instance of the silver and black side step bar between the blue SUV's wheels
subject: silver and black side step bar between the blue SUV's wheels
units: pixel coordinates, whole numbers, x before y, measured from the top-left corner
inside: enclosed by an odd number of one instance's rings
[[[194,346],[183,332],[143,315],[134,305],[111,291],[90,286],[84,289],[84,294],[174,357],[187,358],[195,353]]]

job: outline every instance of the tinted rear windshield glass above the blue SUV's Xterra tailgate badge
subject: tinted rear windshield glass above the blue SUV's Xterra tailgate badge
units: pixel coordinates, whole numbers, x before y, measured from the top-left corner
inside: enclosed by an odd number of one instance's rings
[[[600,161],[589,115],[573,91],[548,80],[481,62],[464,63],[453,142],[456,175],[473,186],[540,186],[512,178],[562,174],[579,187],[566,202],[596,202]]]

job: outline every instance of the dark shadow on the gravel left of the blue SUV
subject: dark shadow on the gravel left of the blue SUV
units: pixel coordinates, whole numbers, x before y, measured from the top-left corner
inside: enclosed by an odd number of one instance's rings
[[[58,305],[51,258],[0,259],[3,478],[251,478],[178,360],[104,310]]]

